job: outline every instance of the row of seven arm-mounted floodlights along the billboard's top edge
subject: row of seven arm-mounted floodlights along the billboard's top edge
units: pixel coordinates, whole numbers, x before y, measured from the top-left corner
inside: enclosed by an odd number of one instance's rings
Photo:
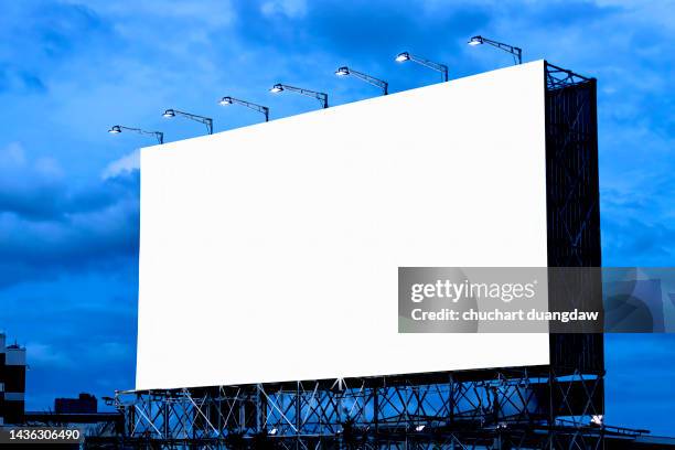
[[[523,51],[519,47],[513,46],[513,45],[508,45],[508,44],[504,44],[497,41],[493,41],[490,40],[488,38],[483,38],[483,36],[473,36],[469,40],[469,45],[480,45],[480,44],[490,44],[492,46],[495,46],[500,50],[503,50],[505,52],[511,53],[511,55],[514,58],[514,63],[515,64],[521,64],[523,62]],[[444,64],[440,64],[440,63],[435,63],[433,61],[430,60],[426,60],[424,57],[419,57],[416,56],[409,52],[401,52],[398,55],[396,55],[396,62],[398,63],[404,63],[406,61],[413,61],[417,64],[420,64],[425,67],[431,68],[436,72],[439,72],[442,76],[442,81],[447,82],[448,81],[448,66]],[[342,66],[339,67],[335,71],[335,75],[338,76],[347,76],[347,75],[352,75],[355,78],[362,79],[373,86],[376,86],[378,88],[382,89],[382,94],[383,95],[387,95],[389,94],[389,84],[383,79],[379,78],[375,78],[374,76],[364,74],[362,72],[355,71],[351,67],[347,66]],[[281,84],[281,83],[277,83],[276,85],[274,85],[270,89],[271,93],[280,93],[283,90],[289,90],[292,93],[297,93],[297,94],[301,94],[308,97],[313,97],[317,100],[319,100],[319,104],[321,105],[322,108],[328,108],[329,107],[329,103],[328,103],[328,94],[325,93],[319,93],[315,90],[310,90],[310,89],[304,89],[301,87],[294,87],[294,86],[289,86],[286,84]],[[246,101],[246,100],[240,100],[238,98],[234,98],[231,96],[226,96],[223,97],[219,101],[221,105],[226,106],[226,105],[242,105],[245,106],[247,108],[254,109],[258,113],[261,113],[262,115],[265,115],[265,121],[269,121],[269,108],[266,106],[261,106],[261,105],[257,105],[250,101]],[[208,130],[210,135],[213,135],[213,119],[210,117],[204,117],[204,116],[199,116],[196,114],[191,114],[191,113],[185,113],[185,111],[181,111],[178,109],[167,109],[163,114],[163,117],[165,118],[173,118],[173,117],[184,117],[186,119],[191,119],[191,120],[195,120],[199,121],[201,124],[204,124],[206,126],[206,129]],[[157,138],[159,143],[164,143],[164,133],[161,131],[146,131],[142,130],[140,128],[132,128],[132,127],[125,127],[121,125],[115,125],[113,126],[108,132],[110,133],[119,133],[122,132],[122,130],[128,130],[128,131],[135,131],[141,135],[152,135]]]

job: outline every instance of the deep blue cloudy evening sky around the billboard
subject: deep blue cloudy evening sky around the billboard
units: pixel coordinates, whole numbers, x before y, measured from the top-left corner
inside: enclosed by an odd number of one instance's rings
[[[259,120],[219,107],[224,95],[272,118],[315,107],[269,95],[277,82],[328,92],[333,105],[375,95],[333,75],[345,64],[393,92],[438,81],[394,63],[404,50],[447,63],[451,78],[508,65],[465,45],[483,34],[597,77],[603,264],[673,266],[673,1],[0,3],[0,328],[29,349],[31,409],[133,386],[133,150],[152,141],[110,136],[111,125],[176,140],[202,126],[164,120],[165,108],[213,117],[221,131]],[[608,336],[608,422],[675,435],[674,338]]]

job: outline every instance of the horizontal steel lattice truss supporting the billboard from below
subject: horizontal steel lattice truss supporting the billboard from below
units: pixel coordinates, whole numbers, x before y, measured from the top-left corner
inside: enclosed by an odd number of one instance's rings
[[[135,448],[588,448],[574,446],[602,441],[588,427],[601,386],[537,366],[128,392],[115,404]]]

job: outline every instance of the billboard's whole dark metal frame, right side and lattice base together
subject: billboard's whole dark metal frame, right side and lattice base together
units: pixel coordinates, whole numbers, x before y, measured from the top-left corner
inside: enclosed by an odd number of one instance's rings
[[[599,267],[596,79],[545,63],[549,267]],[[597,282],[598,280],[587,280]],[[551,334],[545,366],[118,392],[135,448],[603,448],[601,334]]]

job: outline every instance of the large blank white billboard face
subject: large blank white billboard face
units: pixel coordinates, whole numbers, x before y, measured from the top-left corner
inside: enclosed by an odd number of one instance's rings
[[[544,120],[535,62],[143,149],[137,389],[548,364],[397,332],[398,267],[546,266]]]

